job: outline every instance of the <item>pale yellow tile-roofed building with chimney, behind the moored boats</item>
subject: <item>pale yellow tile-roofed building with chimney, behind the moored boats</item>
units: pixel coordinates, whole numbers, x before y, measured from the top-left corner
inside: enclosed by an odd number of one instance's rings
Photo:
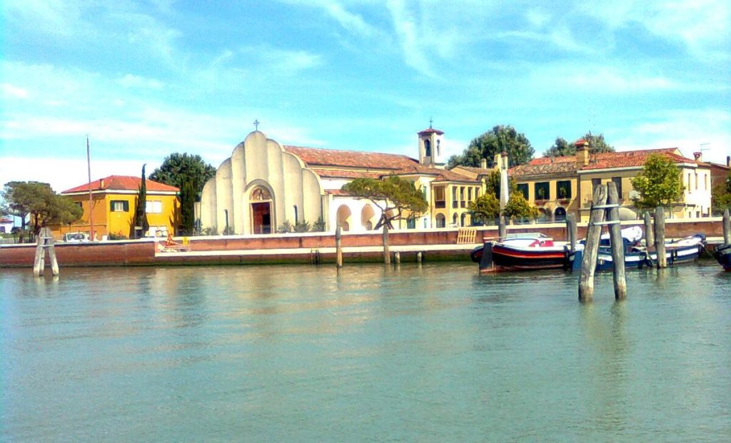
[[[616,183],[620,217],[636,219],[632,197],[632,178],[643,171],[647,157],[659,154],[673,160],[681,170],[685,192],[681,202],[673,205],[670,216],[696,218],[711,214],[711,170],[698,159],[683,157],[678,148],[590,154],[584,140],[577,142],[575,156],[542,157],[510,169],[518,190],[535,205],[546,219],[560,220],[574,213],[577,220],[588,222],[592,195],[598,184]]]

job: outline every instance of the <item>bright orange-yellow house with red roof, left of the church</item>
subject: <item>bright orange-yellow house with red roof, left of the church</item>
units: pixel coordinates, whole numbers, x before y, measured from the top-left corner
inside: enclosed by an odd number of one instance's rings
[[[54,237],[63,238],[67,232],[83,232],[89,235],[90,213],[97,239],[102,240],[110,235],[129,237],[140,182],[139,177],[126,175],[110,175],[92,182],[91,211],[89,211],[88,183],[61,192],[80,205],[83,215],[77,222],[68,226],[52,227]],[[145,210],[150,229],[143,235],[167,236],[168,233],[175,233],[180,208],[178,188],[151,180],[146,180],[145,183],[147,186]]]

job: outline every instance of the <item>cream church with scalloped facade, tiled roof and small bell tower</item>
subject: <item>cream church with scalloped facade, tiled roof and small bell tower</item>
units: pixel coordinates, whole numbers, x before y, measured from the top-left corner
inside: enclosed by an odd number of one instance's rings
[[[203,229],[250,235],[278,232],[285,224],[319,222],[325,231],[367,232],[381,213],[370,200],[342,191],[354,178],[398,175],[423,192],[429,210],[396,229],[471,224],[469,203],[483,192],[491,170],[444,168],[444,132],[430,125],[417,133],[418,159],[398,154],[281,145],[254,131],[205,183],[200,202]]]

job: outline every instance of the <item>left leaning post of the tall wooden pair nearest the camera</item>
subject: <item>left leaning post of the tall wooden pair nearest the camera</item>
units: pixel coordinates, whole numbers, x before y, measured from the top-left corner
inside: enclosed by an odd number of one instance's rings
[[[586,242],[579,276],[579,301],[591,301],[594,298],[594,271],[596,270],[596,258],[599,255],[599,237],[602,235],[606,202],[607,186],[600,184],[594,189],[589,224],[586,227]],[[599,206],[599,208],[594,208],[595,206]]]

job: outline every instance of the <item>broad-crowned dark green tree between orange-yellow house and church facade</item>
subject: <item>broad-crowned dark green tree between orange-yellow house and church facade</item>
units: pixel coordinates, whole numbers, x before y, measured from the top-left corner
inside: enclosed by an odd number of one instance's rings
[[[216,168],[203,162],[199,155],[170,154],[159,168],[150,174],[150,179],[175,186],[181,190],[181,227],[183,232],[193,232],[195,225],[194,203],[200,202],[203,186],[216,176]],[[184,192],[190,183],[189,192]]]

